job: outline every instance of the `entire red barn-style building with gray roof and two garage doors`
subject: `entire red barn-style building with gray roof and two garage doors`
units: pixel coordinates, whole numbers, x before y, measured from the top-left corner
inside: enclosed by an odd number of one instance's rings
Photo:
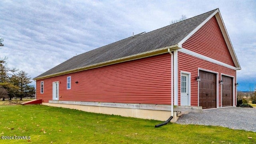
[[[240,69],[216,9],[74,56],[34,80],[44,105],[166,120],[172,96],[174,111],[236,106]]]

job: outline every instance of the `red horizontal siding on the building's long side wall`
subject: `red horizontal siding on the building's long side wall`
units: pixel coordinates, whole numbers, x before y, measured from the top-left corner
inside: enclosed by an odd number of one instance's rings
[[[37,98],[52,100],[52,82],[59,81],[59,100],[170,104],[170,64],[170,54],[161,54],[37,80]],[[67,76],[71,76],[70,90]],[[40,94],[40,81],[44,81],[44,94]]]

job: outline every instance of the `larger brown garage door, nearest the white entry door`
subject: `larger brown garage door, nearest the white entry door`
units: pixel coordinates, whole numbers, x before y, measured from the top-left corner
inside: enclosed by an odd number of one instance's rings
[[[199,106],[216,108],[216,74],[199,71]]]

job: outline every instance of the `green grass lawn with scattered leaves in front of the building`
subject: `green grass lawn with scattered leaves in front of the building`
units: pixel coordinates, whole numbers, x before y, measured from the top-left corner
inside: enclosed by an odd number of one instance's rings
[[[255,144],[256,132],[180,125],[42,105],[0,106],[1,136],[30,136],[1,144]],[[248,137],[252,137],[249,139]],[[17,137],[16,137],[17,138]]]

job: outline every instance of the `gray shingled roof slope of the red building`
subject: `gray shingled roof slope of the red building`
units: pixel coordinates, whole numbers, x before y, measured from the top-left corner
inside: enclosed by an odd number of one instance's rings
[[[79,54],[36,78],[178,44],[214,11],[216,10]]]

